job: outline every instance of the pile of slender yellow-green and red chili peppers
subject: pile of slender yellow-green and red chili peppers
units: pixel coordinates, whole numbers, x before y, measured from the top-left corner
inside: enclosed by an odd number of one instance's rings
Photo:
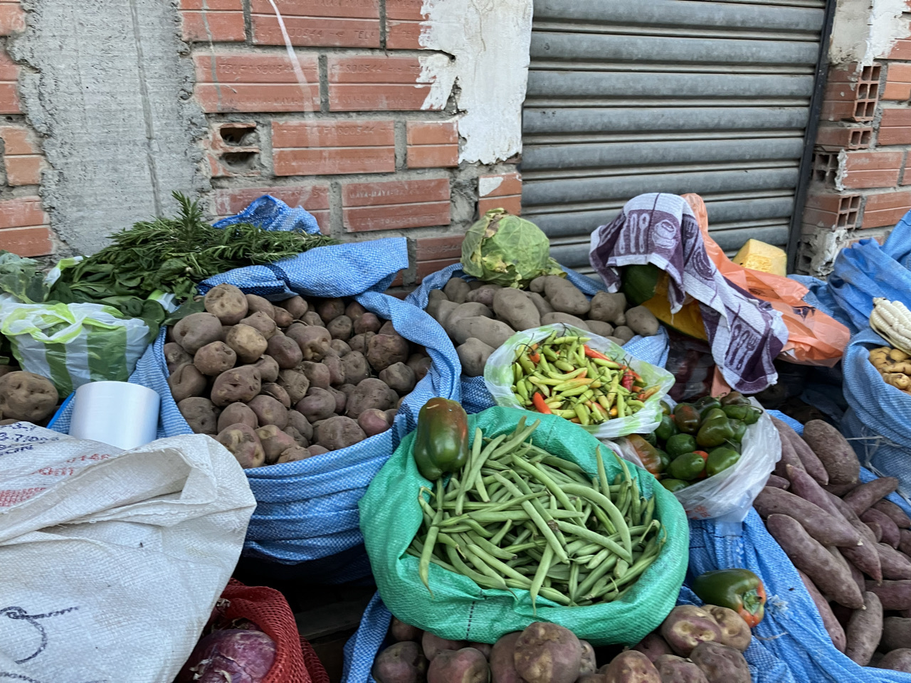
[[[583,425],[639,412],[658,387],[647,388],[630,366],[586,342],[586,337],[555,331],[542,342],[519,347],[512,387],[517,402]]]

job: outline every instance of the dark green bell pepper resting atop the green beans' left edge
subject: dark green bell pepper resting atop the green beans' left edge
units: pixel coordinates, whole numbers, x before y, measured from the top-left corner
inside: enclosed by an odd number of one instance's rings
[[[455,401],[434,397],[417,415],[414,448],[417,469],[436,481],[468,461],[468,415]]]

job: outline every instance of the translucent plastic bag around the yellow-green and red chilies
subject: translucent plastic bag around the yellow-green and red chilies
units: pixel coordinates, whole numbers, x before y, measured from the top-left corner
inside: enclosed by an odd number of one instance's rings
[[[567,324],[544,325],[543,327],[516,332],[499,349],[490,354],[484,366],[484,383],[487,391],[493,395],[497,405],[504,405],[509,408],[524,407],[517,402],[512,392],[512,364],[516,360],[516,350],[520,346],[547,339],[551,332],[555,331],[563,335],[578,335],[589,339],[587,343],[591,349],[604,353],[615,361],[629,365],[630,368],[639,373],[646,386],[657,385],[659,387],[657,392],[646,399],[645,405],[638,413],[634,413],[629,417],[619,418],[619,420],[615,419],[606,423],[582,426],[582,429],[599,439],[616,439],[619,436],[626,436],[631,433],[651,432],[660,424],[661,399],[673,386],[674,376],[663,368],[631,356],[622,347],[605,337],[599,337],[597,334],[580,330],[578,327]]]

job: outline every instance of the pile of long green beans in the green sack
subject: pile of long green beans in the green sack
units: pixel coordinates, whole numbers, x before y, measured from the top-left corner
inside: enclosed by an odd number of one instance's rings
[[[429,584],[431,563],[467,576],[482,588],[527,590],[569,607],[623,596],[667,540],[646,500],[618,458],[622,474],[608,481],[596,451],[598,476],[549,454],[530,436],[540,421],[493,439],[475,430],[461,472],[422,486],[424,521],[408,548]],[[614,457],[617,457],[614,454]]]

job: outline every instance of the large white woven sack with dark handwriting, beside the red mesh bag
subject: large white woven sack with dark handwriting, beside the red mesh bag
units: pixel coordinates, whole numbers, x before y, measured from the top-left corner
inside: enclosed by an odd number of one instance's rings
[[[120,451],[0,427],[0,678],[173,680],[255,504],[241,465],[208,436]]]

